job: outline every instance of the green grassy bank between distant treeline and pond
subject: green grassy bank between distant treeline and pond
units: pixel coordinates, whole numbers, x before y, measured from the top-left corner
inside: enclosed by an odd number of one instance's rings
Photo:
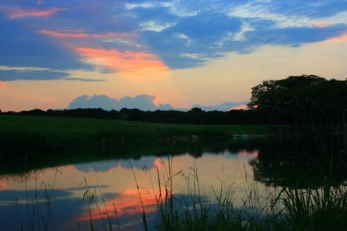
[[[33,153],[126,144],[191,142],[235,134],[269,134],[268,126],[203,126],[121,120],[0,116],[0,152]],[[122,138],[123,137],[123,138]]]

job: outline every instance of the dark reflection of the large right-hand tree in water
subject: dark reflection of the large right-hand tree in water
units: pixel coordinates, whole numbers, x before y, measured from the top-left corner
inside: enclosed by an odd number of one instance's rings
[[[325,180],[333,186],[346,183],[346,151],[327,151],[315,144],[302,140],[267,142],[257,159],[250,161],[255,180],[267,186],[299,188],[319,187]]]

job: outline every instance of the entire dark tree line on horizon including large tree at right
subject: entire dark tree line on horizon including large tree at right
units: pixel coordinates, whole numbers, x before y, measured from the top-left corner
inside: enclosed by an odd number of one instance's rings
[[[250,110],[204,111],[192,108],[142,111],[117,110],[30,110],[2,114],[48,117],[124,119],[153,123],[192,124],[272,124],[290,125],[296,133],[347,133],[347,80],[325,79],[315,75],[289,76],[265,80],[252,88]],[[0,111],[1,113],[1,111]]]

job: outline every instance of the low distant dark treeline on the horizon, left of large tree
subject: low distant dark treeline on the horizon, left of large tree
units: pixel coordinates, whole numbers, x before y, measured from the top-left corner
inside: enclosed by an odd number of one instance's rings
[[[29,110],[22,112],[2,112],[8,115],[44,116],[44,117],[81,117],[93,119],[124,119],[151,123],[189,123],[189,124],[266,124],[254,110],[230,110],[228,112],[209,111],[192,108],[187,112],[178,110],[142,111],[123,108],[120,111],[106,111],[101,108],[71,110]]]

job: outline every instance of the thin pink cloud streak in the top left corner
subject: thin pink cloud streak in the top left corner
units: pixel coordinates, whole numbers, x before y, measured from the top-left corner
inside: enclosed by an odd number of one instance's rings
[[[19,7],[5,7],[7,10],[10,10],[10,18],[18,17],[49,17],[55,14],[58,11],[65,10],[63,8],[51,8],[49,10],[36,10],[36,9],[22,9]]]

